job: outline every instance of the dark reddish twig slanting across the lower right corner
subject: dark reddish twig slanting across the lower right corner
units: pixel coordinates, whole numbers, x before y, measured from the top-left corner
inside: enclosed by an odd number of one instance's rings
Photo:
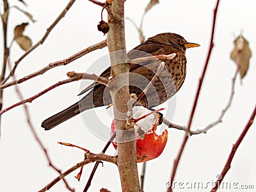
[[[248,120],[246,126],[244,127],[243,129],[243,132],[241,132],[239,138],[237,139],[236,143],[234,143],[233,147],[232,147],[232,150],[228,156],[228,159],[227,159],[227,162],[221,172],[221,177],[220,177],[220,180],[216,180],[215,182],[215,187],[212,188],[211,192],[215,192],[218,190],[218,186],[220,186],[222,180],[224,179],[225,175],[227,174],[228,170],[230,170],[230,167],[231,167],[231,163],[232,163],[232,160],[236,154],[236,151],[237,151],[237,148],[239,147],[239,145],[241,144],[241,142],[243,141],[244,139],[244,136],[246,135],[246,133],[248,132],[248,130],[250,129],[251,125],[253,124],[253,120],[255,118],[255,115],[256,115],[256,106],[254,107],[253,109],[253,113],[252,115],[250,116],[250,119]]]

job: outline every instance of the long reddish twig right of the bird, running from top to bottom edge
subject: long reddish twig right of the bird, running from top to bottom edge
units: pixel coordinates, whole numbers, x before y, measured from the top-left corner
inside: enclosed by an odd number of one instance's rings
[[[201,77],[199,79],[198,88],[197,88],[197,91],[196,91],[196,96],[195,96],[193,108],[192,108],[191,114],[189,116],[188,131],[190,131],[190,128],[191,128],[192,120],[193,120],[193,117],[194,117],[194,114],[195,114],[195,109],[196,109],[196,106],[197,106],[197,103],[198,103],[198,98],[199,98],[200,91],[201,91],[201,88],[202,88],[202,83],[204,81],[205,72],[207,70],[208,63],[209,63],[209,60],[210,60],[210,57],[211,57],[212,48],[214,47],[213,39],[214,39],[215,22],[216,22],[216,17],[217,17],[219,3],[220,3],[220,0],[217,0],[216,1],[216,7],[214,8],[213,20],[212,20],[212,32],[211,32],[210,47],[209,47],[209,51],[208,51],[208,54],[207,54],[207,58],[205,60],[204,70],[203,70],[202,75],[201,75]],[[179,165],[180,157],[183,154],[183,151],[184,151],[185,145],[186,145],[186,143],[188,141],[188,138],[189,138],[189,134],[186,133],[184,135],[184,138],[183,138],[183,141],[182,141],[182,145],[180,146],[179,153],[178,153],[177,157],[175,158],[175,160],[173,162],[172,175],[171,175],[171,179],[170,179],[170,188],[168,188],[167,191],[172,191],[173,180],[175,178],[175,174],[177,172],[177,167]]]

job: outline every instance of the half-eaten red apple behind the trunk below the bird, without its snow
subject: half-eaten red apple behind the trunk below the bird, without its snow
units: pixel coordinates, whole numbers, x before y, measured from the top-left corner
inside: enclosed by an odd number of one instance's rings
[[[156,133],[157,124],[153,125],[144,136],[136,140],[136,149],[137,149],[137,162],[149,161],[160,156],[164,150],[164,147],[168,138],[168,131],[165,130],[161,135]],[[115,120],[111,124],[111,131],[115,130]],[[117,148],[117,143],[112,142],[115,149]]]

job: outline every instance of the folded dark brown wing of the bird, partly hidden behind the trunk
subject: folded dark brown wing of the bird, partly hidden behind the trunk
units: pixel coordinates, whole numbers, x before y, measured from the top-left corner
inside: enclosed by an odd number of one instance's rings
[[[159,43],[156,43],[156,42],[147,41],[147,42],[144,42],[144,43],[138,45],[137,47],[135,47],[131,51],[129,51],[127,53],[127,56],[130,60],[133,60],[133,59],[136,59],[136,58],[143,58],[143,57],[146,57],[146,56],[152,56],[153,53],[154,53],[154,55],[157,55],[157,52],[161,51],[161,49],[163,49],[163,47],[164,47],[164,44],[159,44]],[[140,65],[132,65],[130,71],[135,70],[136,68],[140,67],[141,65],[145,66],[145,65],[148,65],[150,63],[152,63],[152,60],[141,62]],[[110,76],[110,74],[111,74],[111,68],[108,67],[106,70],[104,70],[104,72],[102,72],[102,74],[100,74],[100,76],[108,78]],[[98,82],[90,84],[88,87],[86,87],[78,95],[83,95],[83,93],[88,92],[89,90],[91,90],[93,87],[95,87],[97,85],[99,85]]]

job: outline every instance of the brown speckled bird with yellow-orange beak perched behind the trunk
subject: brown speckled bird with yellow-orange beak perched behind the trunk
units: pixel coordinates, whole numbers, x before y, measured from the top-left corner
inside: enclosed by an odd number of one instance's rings
[[[146,95],[141,98],[141,102],[144,103],[147,108],[151,109],[158,106],[179,91],[186,77],[186,49],[198,46],[200,45],[188,43],[182,36],[175,33],[161,33],[148,38],[147,41],[128,52],[127,56],[131,60],[152,55],[176,53],[175,58],[172,60],[160,60],[164,61],[165,68],[161,71],[161,74],[159,74],[157,80],[154,81],[153,86],[150,87]],[[131,64],[129,74],[130,93],[140,95],[152,77],[154,77],[160,61],[148,60]],[[110,67],[102,72],[100,76],[109,77]],[[49,130],[85,110],[111,104],[112,100],[108,87],[105,85],[93,83],[79,95],[89,90],[91,91],[81,100],[60,113],[44,120],[42,127],[44,127],[45,130]]]

